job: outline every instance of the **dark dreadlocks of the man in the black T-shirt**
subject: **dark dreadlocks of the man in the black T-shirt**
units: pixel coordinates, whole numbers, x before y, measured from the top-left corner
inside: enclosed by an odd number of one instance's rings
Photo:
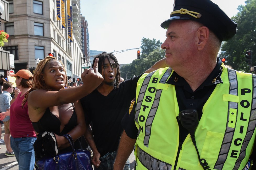
[[[115,62],[115,64],[116,64],[115,85],[116,85],[116,88],[118,88],[119,84],[120,84],[119,83],[119,81],[120,81],[120,67],[119,66],[120,65],[119,65],[117,59],[115,58],[114,54],[103,52],[103,53],[101,53],[101,54],[99,54],[99,55],[94,57],[92,65],[94,65],[94,62],[95,62],[96,58],[99,59],[99,62],[98,62],[98,72],[99,73],[102,73],[102,67],[101,66],[104,64],[104,60],[106,58],[108,59],[110,65],[111,65],[112,70],[113,70],[113,66],[112,66],[112,64],[110,62],[110,59],[112,59]],[[105,68],[104,67],[103,67],[103,75],[102,76],[105,77]]]

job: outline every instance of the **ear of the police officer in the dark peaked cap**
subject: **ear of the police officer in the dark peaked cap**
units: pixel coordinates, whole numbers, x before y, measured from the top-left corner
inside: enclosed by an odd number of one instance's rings
[[[197,30],[197,49],[201,51],[204,49],[209,39],[209,28],[202,26]]]

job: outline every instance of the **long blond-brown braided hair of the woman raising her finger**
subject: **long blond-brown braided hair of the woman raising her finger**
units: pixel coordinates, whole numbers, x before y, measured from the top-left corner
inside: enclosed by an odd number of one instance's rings
[[[52,56],[47,56],[46,58],[44,58],[43,60],[41,60],[37,66],[36,66],[36,69],[35,69],[35,73],[34,73],[34,79],[33,79],[33,82],[32,82],[32,87],[31,89],[25,94],[24,96],[24,99],[22,101],[22,107],[25,105],[25,103],[27,102],[27,97],[29,95],[29,93],[33,90],[36,90],[36,89],[43,89],[43,90],[46,90],[46,91],[52,91],[51,88],[49,88],[44,80],[43,80],[43,70],[44,70],[44,67],[45,65],[48,63],[48,62],[52,62],[52,61],[58,61],[60,62],[62,65],[63,63],[59,60],[57,60],[55,57],[52,57]],[[64,65],[63,65],[64,67]],[[66,70],[64,68],[64,72],[66,74],[66,84],[65,86],[62,88],[64,89],[65,87],[68,87],[68,76],[67,76],[67,73],[66,73]]]

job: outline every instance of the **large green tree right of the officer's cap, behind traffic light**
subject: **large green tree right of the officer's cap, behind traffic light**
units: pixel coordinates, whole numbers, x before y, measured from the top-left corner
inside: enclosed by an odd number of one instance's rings
[[[246,5],[238,7],[239,12],[231,19],[237,26],[237,34],[221,47],[220,57],[226,57],[226,64],[235,70],[249,72],[245,52],[252,50],[252,66],[256,64],[256,0],[247,0]]]

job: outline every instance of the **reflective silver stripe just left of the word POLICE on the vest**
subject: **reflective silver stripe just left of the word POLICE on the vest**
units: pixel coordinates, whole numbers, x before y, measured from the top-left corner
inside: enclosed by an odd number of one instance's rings
[[[229,88],[229,94],[237,96],[237,75],[236,71],[228,68],[228,78],[230,82],[230,88]],[[229,102],[229,108],[231,109],[238,109],[238,103],[236,102]],[[237,115],[237,112],[236,112]],[[226,125],[226,131],[224,134],[224,139],[222,141],[220,153],[218,156],[218,159],[215,163],[214,169],[221,170],[223,168],[223,165],[227,159],[227,155],[229,153],[230,145],[232,142],[233,134],[235,129],[228,127],[229,123],[229,113],[227,114],[227,125]]]

